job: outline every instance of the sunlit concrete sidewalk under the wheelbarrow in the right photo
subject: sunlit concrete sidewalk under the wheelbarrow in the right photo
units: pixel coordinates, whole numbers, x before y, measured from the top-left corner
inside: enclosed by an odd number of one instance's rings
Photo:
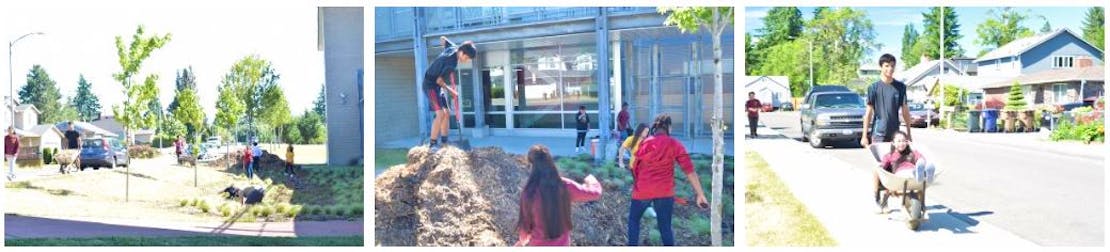
[[[871,174],[819,150],[761,127],[759,139],[746,140],[767,161],[838,244],[844,246],[1031,246],[1005,230],[975,220],[991,213],[957,213],[944,202],[926,199],[929,221],[917,232],[906,228],[905,213],[891,202],[890,214],[877,214]],[[942,178],[941,178],[942,179]]]

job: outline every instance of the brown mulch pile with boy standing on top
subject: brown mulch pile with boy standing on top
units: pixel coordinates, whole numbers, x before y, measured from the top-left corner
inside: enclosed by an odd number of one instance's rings
[[[517,240],[517,201],[527,177],[523,157],[500,148],[470,153],[446,148],[432,157],[426,148],[413,148],[407,164],[393,167],[374,181],[376,243],[512,245]],[[615,187],[606,187],[597,202],[575,204],[574,244],[626,244],[628,204],[627,192]]]

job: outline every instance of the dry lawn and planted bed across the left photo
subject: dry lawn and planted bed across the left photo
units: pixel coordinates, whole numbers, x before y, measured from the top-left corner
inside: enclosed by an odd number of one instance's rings
[[[278,167],[260,169],[261,180],[248,182],[238,168],[200,165],[194,170],[176,165],[169,155],[133,160],[132,165],[130,191],[124,190],[128,175],[120,168],[6,182],[9,203],[4,213],[191,222],[363,218],[361,167],[303,165],[299,175],[306,187],[295,189],[286,185],[283,169]],[[228,185],[248,183],[266,188],[263,203],[244,206],[220,194]]]

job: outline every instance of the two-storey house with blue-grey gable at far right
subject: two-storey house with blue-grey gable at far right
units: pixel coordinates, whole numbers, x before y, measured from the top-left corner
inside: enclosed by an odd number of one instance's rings
[[[988,108],[1005,107],[1015,82],[1022,85],[1030,108],[1103,95],[1102,50],[1068,29],[1015,40],[975,62],[985,77],[979,88]]]

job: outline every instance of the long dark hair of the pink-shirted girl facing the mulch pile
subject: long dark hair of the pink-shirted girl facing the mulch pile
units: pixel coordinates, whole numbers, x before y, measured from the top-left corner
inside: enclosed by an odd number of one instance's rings
[[[521,192],[516,229],[529,232],[535,229],[532,210],[535,199],[539,198],[539,214],[543,215],[546,239],[557,239],[574,228],[574,223],[571,223],[571,193],[563,185],[563,179],[547,147],[532,145],[528,149],[528,163],[532,165],[532,174]]]

